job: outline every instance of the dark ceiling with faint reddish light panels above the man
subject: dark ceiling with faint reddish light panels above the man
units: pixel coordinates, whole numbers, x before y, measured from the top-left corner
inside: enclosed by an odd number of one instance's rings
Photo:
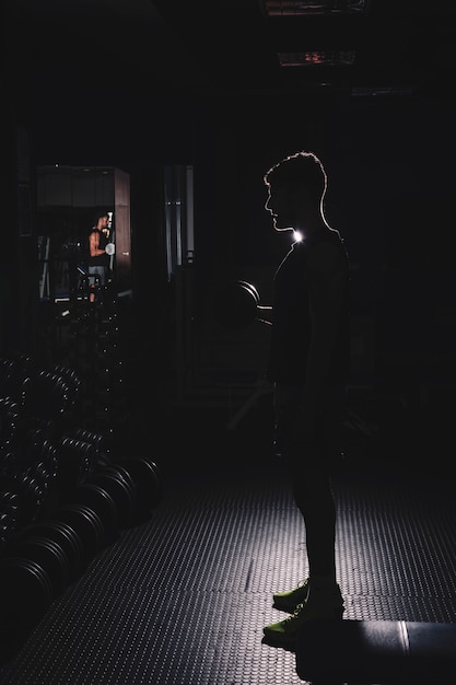
[[[220,93],[451,97],[451,0],[5,0],[38,70]]]

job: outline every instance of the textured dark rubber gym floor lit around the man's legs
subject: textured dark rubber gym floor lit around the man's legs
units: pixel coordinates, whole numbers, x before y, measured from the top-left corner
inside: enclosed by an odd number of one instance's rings
[[[269,408],[229,432],[209,410],[183,414],[155,443],[164,491],[151,516],[54,601],[1,685],[304,682],[293,652],[261,641],[282,615],[272,592],[306,576]],[[456,622],[454,445],[410,430],[375,445],[352,437],[335,473],[344,618]]]

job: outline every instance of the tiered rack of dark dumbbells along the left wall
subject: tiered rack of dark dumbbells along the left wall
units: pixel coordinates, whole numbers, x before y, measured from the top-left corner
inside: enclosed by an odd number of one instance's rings
[[[85,293],[84,293],[85,294]],[[70,304],[67,358],[0,359],[0,660],[52,601],[161,501],[152,455],[115,449],[125,410],[117,301]]]

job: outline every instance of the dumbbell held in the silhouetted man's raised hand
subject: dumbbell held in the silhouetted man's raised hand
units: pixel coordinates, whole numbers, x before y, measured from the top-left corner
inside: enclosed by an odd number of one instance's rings
[[[225,328],[245,328],[254,321],[270,324],[262,318],[271,306],[260,304],[258,290],[245,280],[233,280],[220,288],[214,306],[214,321]]]

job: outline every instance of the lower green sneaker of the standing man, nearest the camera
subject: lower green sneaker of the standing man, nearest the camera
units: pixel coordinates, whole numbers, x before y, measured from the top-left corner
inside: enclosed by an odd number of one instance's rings
[[[277,647],[293,648],[300,628],[308,620],[326,620],[342,618],[343,600],[338,592],[331,592],[321,601],[299,604],[294,612],[278,623],[265,626],[265,641]]]

